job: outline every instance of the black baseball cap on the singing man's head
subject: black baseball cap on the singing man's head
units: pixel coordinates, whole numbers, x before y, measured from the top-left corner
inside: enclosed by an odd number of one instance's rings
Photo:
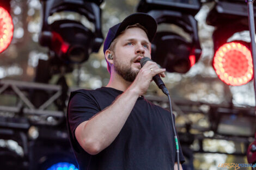
[[[156,20],[148,14],[145,14],[142,12],[137,12],[135,14],[131,14],[131,15],[127,16],[123,22],[120,22],[120,23],[116,24],[115,26],[109,28],[107,37],[104,41],[104,46],[103,46],[104,54],[105,54],[106,50],[109,48],[109,46],[111,45],[112,41],[121,32],[123,32],[123,30],[125,30],[127,26],[132,26],[136,23],[141,24],[147,30],[148,39],[151,42],[155,36],[156,29],[157,29]]]

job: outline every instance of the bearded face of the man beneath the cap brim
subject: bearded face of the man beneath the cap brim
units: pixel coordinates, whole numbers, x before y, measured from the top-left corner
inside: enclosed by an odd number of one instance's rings
[[[113,66],[126,81],[134,81],[144,56],[151,58],[150,42],[147,34],[141,28],[128,28],[119,35],[114,48]]]

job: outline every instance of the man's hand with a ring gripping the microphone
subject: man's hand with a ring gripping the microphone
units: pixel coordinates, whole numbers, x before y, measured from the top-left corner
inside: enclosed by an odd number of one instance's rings
[[[148,61],[139,71],[136,79],[133,81],[129,89],[136,91],[138,95],[143,95],[149,87],[152,78],[156,74],[160,74],[161,77],[166,77],[164,72],[165,68],[159,68],[156,62]]]

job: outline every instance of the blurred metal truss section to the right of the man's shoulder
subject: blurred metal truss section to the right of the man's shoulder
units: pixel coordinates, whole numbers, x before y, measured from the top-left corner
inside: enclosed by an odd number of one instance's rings
[[[169,109],[167,97],[156,97],[156,96],[145,96],[150,102],[160,105],[163,108]],[[193,150],[197,153],[221,153],[221,152],[210,152],[203,148],[204,140],[227,140],[233,141],[236,143],[243,144],[244,149],[247,149],[249,143],[255,140],[254,133],[256,132],[256,119],[255,119],[255,108],[254,107],[238,107],[227,104],[210,104],[204,102],[193,102],[186,99],[172,99],[173,112],[176,116],[176,119],[182,117],[185,119],[185,123],[179,124],[176,123],[175,127],[179,131],[179,138],[181,143],[190,143],[197,140],[199,142],[199,149]],[[209,122],[208,127],[201,126],[195,122],[192,122],[190,115],[200,114],[203,115],[202,119],[205,119]],[[241,118],[246,118],[249,123],[252,124],[252,134],[251,135],[237,135],[234,133],[222,133],[218,130],[218,127],[221,123],[223,116],[239,116]],[[189,129],[187,128],[189,125]],[[246,126],[246,124],[245,124]],[[186,130],[185,130],[186,129]],[[196,133],[187,133],[187,131],[196,131]],[[207,133],[211,131],[212,135],[208,136]],[[205,134],[206,133],[206,134]],[[190,137],[187,137],[190,136]],[[190,138],[188,140],[188,138]],[[193,138],[193,139],[191,139]],[[246,150],[235,153],[222,153],[222,154],[231,154],[245,156]]]

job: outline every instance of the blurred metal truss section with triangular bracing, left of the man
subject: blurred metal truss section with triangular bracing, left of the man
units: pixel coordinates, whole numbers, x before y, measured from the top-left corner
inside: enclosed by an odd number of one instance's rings
[[[40,90],[51,95],[39,107],[35,107],[30,98],[31,91]],[[76,88],[70,88],[70,91]],[[70,91],[68,93],[70,93]],[[0,98],[4,96],[11,96],[15,98],[16,103],[12,106],[0,104],[0,116],[15,117],[17,115],[27,117],[32,122],[39,124],[53,124],[52,119],[65,118],[65,112],[54,110],[50,107],[56,105],[54,102],[62,95],[62,87],[60,85],[31,83],[25,81],[15,80],[0,80]],[[41,96],[38,96],[39,98]],[[47,118],[50,118],[50,120]],[[56,124],[56,123],[55,123]]]

